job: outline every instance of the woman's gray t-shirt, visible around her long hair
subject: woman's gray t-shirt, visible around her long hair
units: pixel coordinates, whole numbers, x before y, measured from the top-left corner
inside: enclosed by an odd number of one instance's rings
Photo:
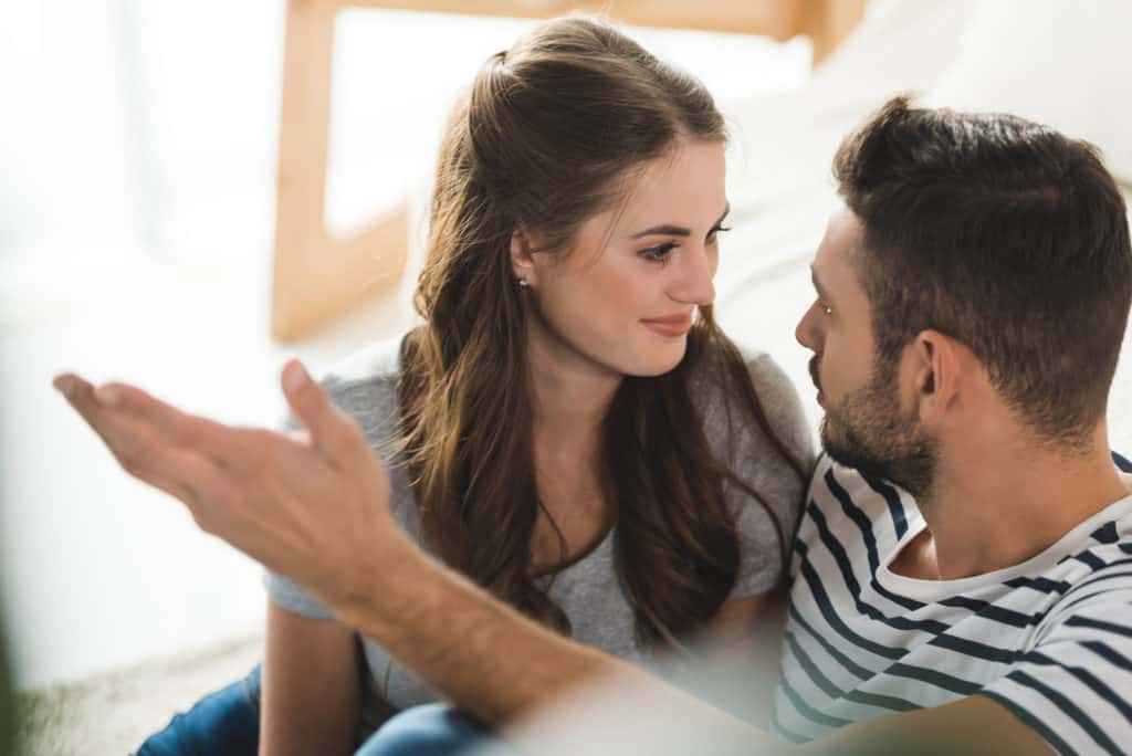
[[[385,462],[391,512],[405,533],[420,542],[417,504],[408,483],[404,455],[397,450],[400,351],[401,338],[375,344],[332,368],[321,383],[329,398],[354,419]],[[795,457],[808,465],[813,441],[794,386],[769,355],[748,350],[743,353],[771,427]],[[726,458],[739,478],[758,491],[774,512],[782,532],[787,538],[792,536],[804,481],[757,428],[731,426],[722,397],[711,395],[706,377],[694,377],[692,389],[700,403],[706,436],[719,457]],[[294,428],[293,420],[286,424]],[[774,523],[763,507],[739,490],[728,492],[728,504],[736,513],[740,551],[730,598],[765,593],[782,578]],[[633,608],[615,570],[615,538],[616,527],[589,553],[556,573],[548,594],[569,618],[574,639],[642,663],[645,658],[636,646]],[[282,575],[268,573],[265,582],[276,605],[303,617],[334,619],[317,599]],[[363,647],[377,690],[393,706],[405,708],[439,699],[436,690],[392,661],[377,643],[363,638]]]

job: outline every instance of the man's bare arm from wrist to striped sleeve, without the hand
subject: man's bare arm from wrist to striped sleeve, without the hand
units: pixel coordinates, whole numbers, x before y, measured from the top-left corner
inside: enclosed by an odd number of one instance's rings
[[[981,696],[783,745],[533,622],[403,539],[376,555],[369,569],[372,591],[335,612],[460,708],[495,727],[518,721],[511,739],[532,753],[611,753],[631,739],[669,754],[688,753],[692,744],[712,754],[1049,753],[1010,711]]]

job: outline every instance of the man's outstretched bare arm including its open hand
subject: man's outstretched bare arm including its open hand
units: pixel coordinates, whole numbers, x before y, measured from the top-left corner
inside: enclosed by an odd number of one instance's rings
[[[710,740],[704,753],[796,753],[627,663],[556,635],[409,543],[388,513],[381,463],[357,424],[297,363],[284,371],[283,387],[308,430],[302,438],[187,415],[126,385],[95,390],[66,375],[55,386],[128,473],[183,501],[206,532],[307,586],[343,622],[489,724],[509,724],[580,691],[569,705],[588,712],[586,734],[616,738],[625,747],[648,739],[655,745],[651,753],[662,753],[657,749],[669,740],[658,737],[676,728],[698,734],[700,744]],[[612,701],[586,686],[597,680],[617,691]],[[600,701],[607,705],[594,706]],[[907,753],[938,740],[952,751],[966,745],[971,753],[1000,753],[992,738],[1005,732],[1020,744],[1014,753],[1039,753],[1040,741],[1020,728],[1003,707],[970,699],[852,725],[807,750]],[[577,729],[560,751],[586,753]],[[531,725],[515,737],[542,742],[540,732],[546,730]],[[598,741],[590,750],[600,747]]]

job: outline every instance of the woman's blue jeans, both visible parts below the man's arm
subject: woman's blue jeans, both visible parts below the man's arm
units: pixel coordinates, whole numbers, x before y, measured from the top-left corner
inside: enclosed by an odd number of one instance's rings
[[[256,756],[259,747],[261,669],[212,693],[164,730],[151,736],[137,756]],[[448,756],[499,741],[480,723],[441,704],[414,706],[375,732],[358,756]],[[497,751],[492,751],[497,753]],[[509,751],[503,751],[509,753]]]

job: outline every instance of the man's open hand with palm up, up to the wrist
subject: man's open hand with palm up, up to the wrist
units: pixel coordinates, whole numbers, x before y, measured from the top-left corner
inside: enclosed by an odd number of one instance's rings
[[[126,472],[334,608],[365,595],[376,568],[368,566],[400,538],[388,478],[358,426],[298,361],[285,366],[282,385],[303,433],[224,426],[123,384],[54,380]]]

